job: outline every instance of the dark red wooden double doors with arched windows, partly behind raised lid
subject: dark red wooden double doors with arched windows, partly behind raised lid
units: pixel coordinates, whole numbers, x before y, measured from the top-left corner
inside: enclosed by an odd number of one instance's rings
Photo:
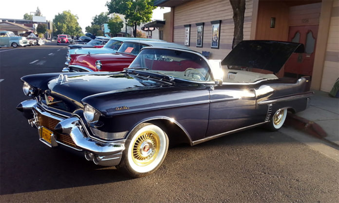
[[[293,53],[285,63],[284,72],[312,76],[319,25],[289,27],[288,41],[304,44],[304,53]]]

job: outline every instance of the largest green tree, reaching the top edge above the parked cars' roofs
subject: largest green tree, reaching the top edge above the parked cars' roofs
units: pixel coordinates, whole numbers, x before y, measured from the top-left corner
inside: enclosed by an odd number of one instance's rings
[[[136,26],[151,20],[154,0],[111,0],[106,3],[109,13],[125,15],[127,24],[132,26],[136,37]]]

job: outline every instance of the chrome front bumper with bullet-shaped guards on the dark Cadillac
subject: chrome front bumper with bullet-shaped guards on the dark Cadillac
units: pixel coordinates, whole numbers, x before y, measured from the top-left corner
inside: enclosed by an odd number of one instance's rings
[[[95,164],[104,166],[118,165],[121,160],[121,155],[125,149],[125,140],[117,142],[100,142],[90,138],[87,135],[84,126],[77,117],[62,118],[57,115],[45,111],[36,100],[26,100],[19,103],[17,109],[21,111],[25,118],[28,119],[28,123],[32,127],[39,129],[40,141],[50,147],[56,147],[59,144],[68,146],[77,151],[84,151],[85,158],[89,161],[93,161]],[[40,118],[39,116],[40,115]],[[51,135],[51,143],[46,142],[41,137],[40,128],[48,127],[41,126],[41,117],[52,119],[58,122],[54,129],[49,129],[53,132]],[[69,136],[74,143],[67,144],[57,139],[57,135]]]

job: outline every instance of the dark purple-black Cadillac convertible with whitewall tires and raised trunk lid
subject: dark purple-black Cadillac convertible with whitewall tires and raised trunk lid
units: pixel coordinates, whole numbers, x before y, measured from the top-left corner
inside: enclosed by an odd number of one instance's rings
[[[309,77],[227,69],[277,72],[301,49],[299,43],[242,41],[224,66],[212,61],[211,67],[194,51],[145,47],[122,72],[22,77],[31,99],[17,109],[44,144],[65,145],[95,164],[142,177],[161,165],[169,142],[195,145],[259,125],[278,130],[287,111],[304,110],[313,94]]]

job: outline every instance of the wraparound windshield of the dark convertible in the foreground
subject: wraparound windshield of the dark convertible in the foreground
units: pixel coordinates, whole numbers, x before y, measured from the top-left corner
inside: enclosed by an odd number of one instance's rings
[[[187,51],[144,49],[131,63],[130,68],[145,68],[147,71],[184,80],[213,81],[207,61]]]

